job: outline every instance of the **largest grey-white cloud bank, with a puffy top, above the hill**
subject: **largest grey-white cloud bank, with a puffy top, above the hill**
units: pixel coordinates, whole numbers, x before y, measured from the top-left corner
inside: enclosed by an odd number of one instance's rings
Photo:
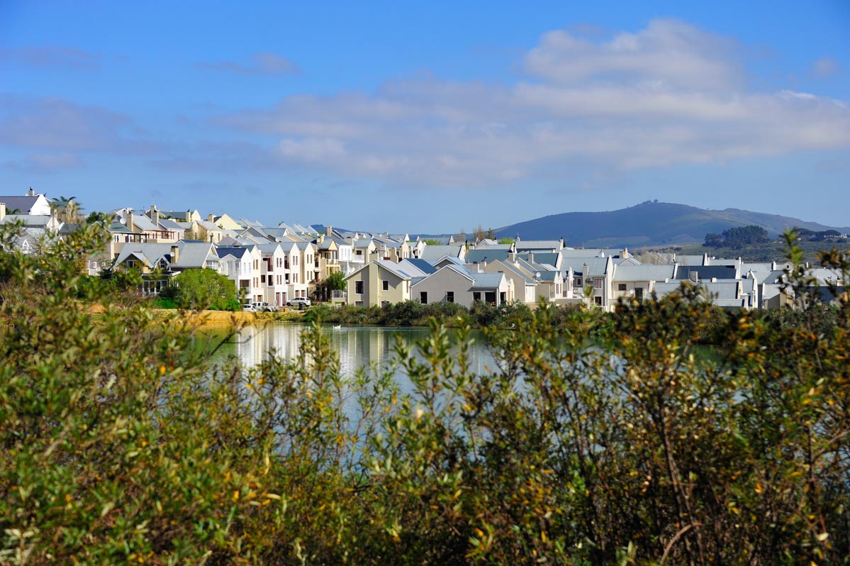
[[[286,164],[418,186],[481,186],[850,147],[847,101],[746,88],[739,46],[678,20],[588,40],[552,31],[513,84],[420,75],[218,116]]]

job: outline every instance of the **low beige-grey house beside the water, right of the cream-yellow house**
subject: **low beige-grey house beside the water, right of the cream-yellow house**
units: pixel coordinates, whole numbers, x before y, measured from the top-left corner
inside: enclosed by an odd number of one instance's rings
[[[447,264],[411,286],[411,300],[422,303],[473,303],[500,305],[513,301],[513,284],[504,273],[476,273]]]

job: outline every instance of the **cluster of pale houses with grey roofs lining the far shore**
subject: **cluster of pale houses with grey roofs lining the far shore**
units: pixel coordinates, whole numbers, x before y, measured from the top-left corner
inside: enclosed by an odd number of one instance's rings
[[[54,204],[32,190],[0,196],[0,224],[25,226],[18,244],[30,252],[46,234],[74,228]],[[337,300],[352,305],[449,302],[469,306],[547,301],[612,310],[621,299],[643,300],[677,292],[685,280],[702,286],[723,308],[776,308],[791,303],[785,290],[788,263],[747,263],[707,254],[649,254],[644,262],[627,249],[574,249],[563,240],[481,240],[474,244],[407,234],[349,232],[326,227],[264,226],[227,214],[117,209],[103,221],[104,250],[88,258],[88,273],[138,269],[142,292],[156,294],[185,269],[213,269],[233,280],[250,301],[284,305],[311,297],[316,286],[340,273],[346,290]],[[649,259],[649,261],[646,261]],[[825,302],[843,291],[842,274],[810,269]],[[831,294],[830,294],[831,293]]]

